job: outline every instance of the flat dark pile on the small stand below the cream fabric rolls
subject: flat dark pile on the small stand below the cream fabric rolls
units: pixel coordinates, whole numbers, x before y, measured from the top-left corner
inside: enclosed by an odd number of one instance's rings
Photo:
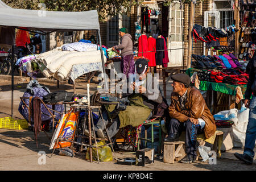
[[[47,96],[44,96],[43,101],[46,103],[57,103],[57,102],[72,102],[73,93],[67,92],[65,90],[58,90],[56,92],[49,93]]]

